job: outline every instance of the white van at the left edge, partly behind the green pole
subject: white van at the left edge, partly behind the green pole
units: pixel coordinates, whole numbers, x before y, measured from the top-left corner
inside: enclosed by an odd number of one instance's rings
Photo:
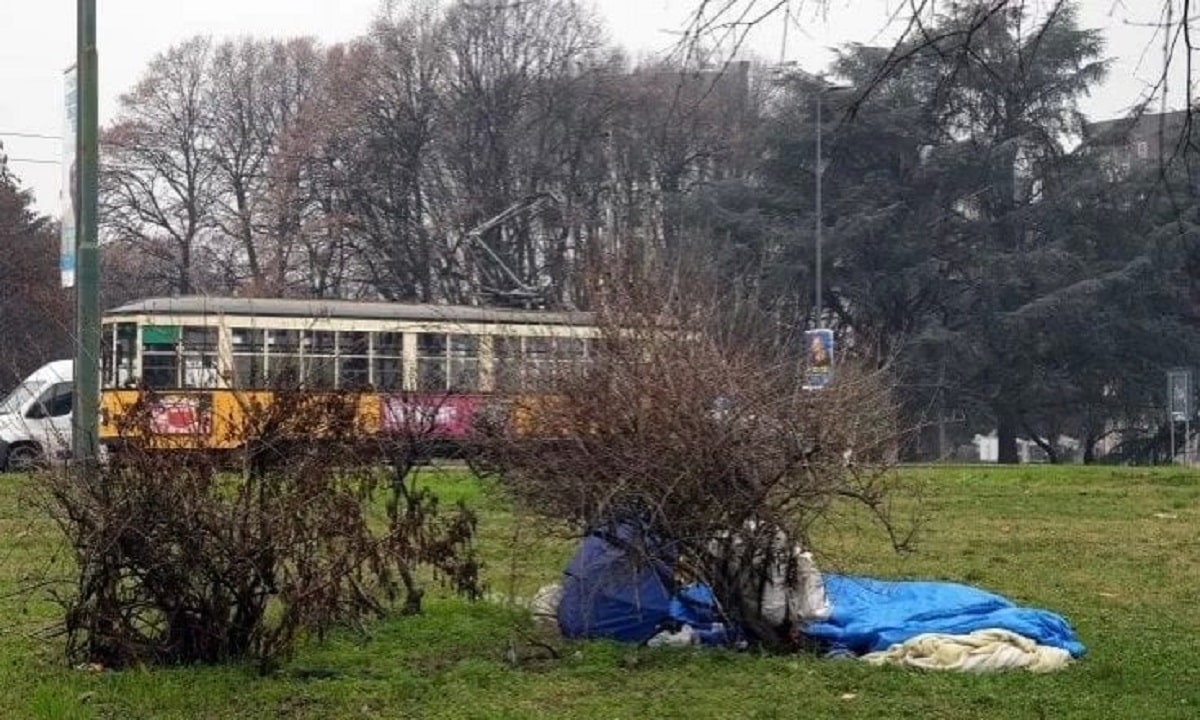
[[[74,362],[40,367],[0,402],[0,470],[28,470],[71,452]]]

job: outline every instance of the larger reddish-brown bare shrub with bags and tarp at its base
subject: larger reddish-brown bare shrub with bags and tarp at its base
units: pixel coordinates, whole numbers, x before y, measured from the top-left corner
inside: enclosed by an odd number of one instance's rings
[[[799,338],[716,294],[630,283],[598,316],[590,362],[560,364],[518,402],[517,422],[492,426],[481,468],[520,506],[580,532],[641,528],[630,552],[668,553],[642,559],[673,562],[754,640],[791,647],[794,625],[757,617],[772,568],[797,576],[796,542],[809,546],[839,499],[894,532],[888,373],[846,358],[827,388],[806,390]]]

